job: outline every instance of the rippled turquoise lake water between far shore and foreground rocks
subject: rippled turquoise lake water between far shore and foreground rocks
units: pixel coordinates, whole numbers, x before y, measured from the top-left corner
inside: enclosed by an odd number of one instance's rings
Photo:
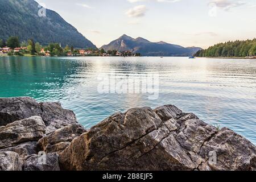
[[[98,76],[159,74],[159,97],[102,94]],[[89,128],[131,107],[174,104],[256,144],[256,61],[187,57],[0,57],[0,97],[60,101]]]

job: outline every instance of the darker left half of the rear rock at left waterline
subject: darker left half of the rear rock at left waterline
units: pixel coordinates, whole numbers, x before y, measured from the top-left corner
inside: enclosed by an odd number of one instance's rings
[[[30,97],[0,98],[0,126],[41,113],[38,102]]]

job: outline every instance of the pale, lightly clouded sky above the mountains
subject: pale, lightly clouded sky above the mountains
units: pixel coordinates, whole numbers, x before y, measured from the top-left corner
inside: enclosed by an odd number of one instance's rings
[[[36,0],[97,47],[123,34],[208,48],[256,38],[255,0]]]

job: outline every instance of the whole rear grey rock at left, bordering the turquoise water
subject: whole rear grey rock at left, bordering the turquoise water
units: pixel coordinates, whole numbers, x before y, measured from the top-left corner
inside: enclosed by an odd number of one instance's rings
[[[77,123],[73,111],[63,109],[59,102],[38,103],[30,97],[0,98],[0,126],[32,116],[42,117],[47,134]]]

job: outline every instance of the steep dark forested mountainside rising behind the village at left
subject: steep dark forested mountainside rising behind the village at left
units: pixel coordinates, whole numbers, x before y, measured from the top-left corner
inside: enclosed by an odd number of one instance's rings
[[[96,48],[55,11],[47,9],[46,16],[40,17],[40,9],[34,0],[0,0],[0,39],[19,36],[21,41],[34,39],[43,45],[61,43],[76,48]]]

